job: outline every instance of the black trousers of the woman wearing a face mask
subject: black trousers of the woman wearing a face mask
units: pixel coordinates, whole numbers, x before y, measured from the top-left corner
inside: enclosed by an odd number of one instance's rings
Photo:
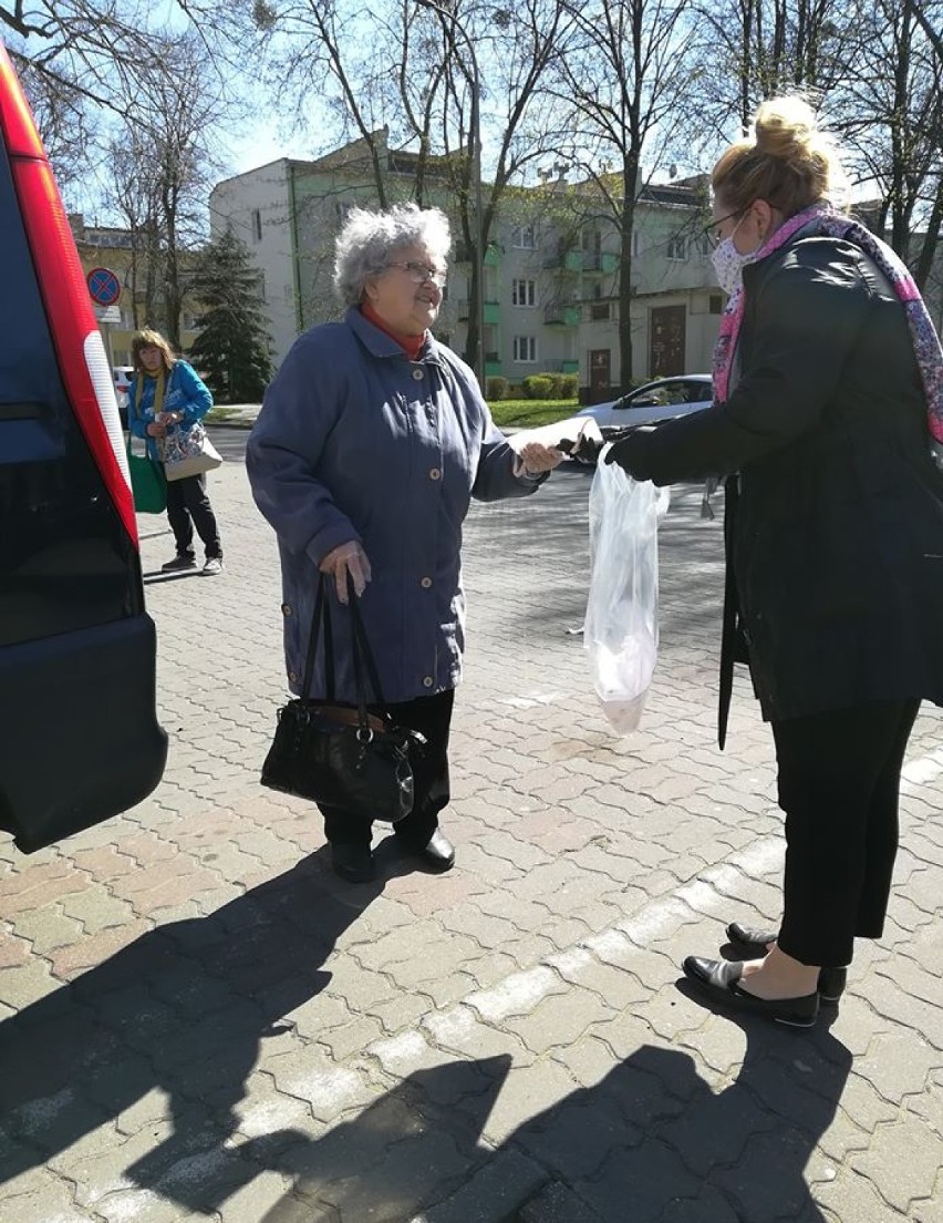
[[[919,701],[875,701],[773,723],[785,882],[779,947],[803,964],[851,963],[884,928],[898,793]]]

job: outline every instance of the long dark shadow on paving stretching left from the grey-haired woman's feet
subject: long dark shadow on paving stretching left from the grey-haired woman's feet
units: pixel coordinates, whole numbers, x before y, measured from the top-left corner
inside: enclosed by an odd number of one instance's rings
[[[337,938],[384,887],[343,884],[324,859],[311,855],[205,917],[149,931],[0,1024],[0,1183],[55,1159],[159,1087],[172,1128],[127,1174],[155,1184],[194,1152],[205,1161],[216,1151],[209,1162],[226,1173],[225,1188],[210,1177],[209,1200],[231,1192],[238,1157],[221,1147],[260,1041],[289,1031],[282,1016],[327,985],[322,965]],[[246,1164],[244,1179],[257,1172]]]

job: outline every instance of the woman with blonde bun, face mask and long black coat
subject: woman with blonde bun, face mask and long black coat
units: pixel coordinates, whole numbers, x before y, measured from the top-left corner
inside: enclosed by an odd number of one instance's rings
[[[716,401],[607,454],[656,484],[730,477],[721,691],[739,621],[776,744],[783,920],[733,922],[741,958],[684,971],[796,1026],[881,937],[904,752],[921,700],[943,704],[943,356],[908,269],[829,204],[840,181],[809,105],[763,103],[712,176]]]

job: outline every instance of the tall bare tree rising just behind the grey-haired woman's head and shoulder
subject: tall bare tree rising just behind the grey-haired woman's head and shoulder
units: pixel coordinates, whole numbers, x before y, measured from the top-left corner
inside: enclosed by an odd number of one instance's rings
[[[552,147],[541,128],[541,86],[568,18],[563,0],[440,7],[446,12],[387,0],[368,15],[357,0],[285,0],[269,29],[270,62],[272,78],[296,92],[298,120],[310,121],[318,98],[337,121],[331,139],[363,148],[381,208],[406,196],[452,214],[465,252],[474,252],[464,351],[474,366],[484,251],[502,192]],[[480,78],[471,40],[487,51]],[[486,143],[480,243],[479,127]]]

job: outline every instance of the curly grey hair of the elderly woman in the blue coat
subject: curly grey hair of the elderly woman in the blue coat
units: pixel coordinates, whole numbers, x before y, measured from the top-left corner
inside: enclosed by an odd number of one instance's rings
[[[379,275],[397,251],[424,246],[445,267],[451,245],[448,218],[439,208],[395,204],[385,213],[352,208],[335,243],[333,287],[344,306],[357,306],[366,281]]]

